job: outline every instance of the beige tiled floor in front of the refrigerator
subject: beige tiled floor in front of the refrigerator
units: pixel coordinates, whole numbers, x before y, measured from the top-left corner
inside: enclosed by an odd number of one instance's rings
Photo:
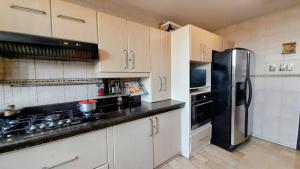
[[[300,169],[300,151],[252,138],[233,153],[209,145],[190,160],[176,157],[159,169]]]

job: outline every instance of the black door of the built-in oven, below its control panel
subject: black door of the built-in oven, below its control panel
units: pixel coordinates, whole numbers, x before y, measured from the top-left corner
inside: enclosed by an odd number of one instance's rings
[[[194,102],[191,105],[191,129],[197,129],[211,121],[212,100]]]

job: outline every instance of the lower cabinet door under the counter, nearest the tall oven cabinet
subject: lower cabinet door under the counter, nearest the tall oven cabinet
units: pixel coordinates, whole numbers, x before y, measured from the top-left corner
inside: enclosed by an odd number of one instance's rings
[[[154,168],[180,153],[181,110],[173,110],[154,117]]]

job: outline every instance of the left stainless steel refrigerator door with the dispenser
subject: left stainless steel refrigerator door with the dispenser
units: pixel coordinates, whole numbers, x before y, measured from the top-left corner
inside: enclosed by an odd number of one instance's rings
[[[231,100],[231,145],[235,146],[248,137],[246,131],[247,98],[249,98],[247,78],[248,50],[232,51],[232,100]],[[247,119],[248,120],[248,119]]]

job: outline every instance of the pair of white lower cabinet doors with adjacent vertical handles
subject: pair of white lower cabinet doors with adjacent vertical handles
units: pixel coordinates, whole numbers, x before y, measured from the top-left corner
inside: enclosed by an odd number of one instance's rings
[[[178,109],[113,127],[115,169],[153,169],[180,153],[180,114]]]

